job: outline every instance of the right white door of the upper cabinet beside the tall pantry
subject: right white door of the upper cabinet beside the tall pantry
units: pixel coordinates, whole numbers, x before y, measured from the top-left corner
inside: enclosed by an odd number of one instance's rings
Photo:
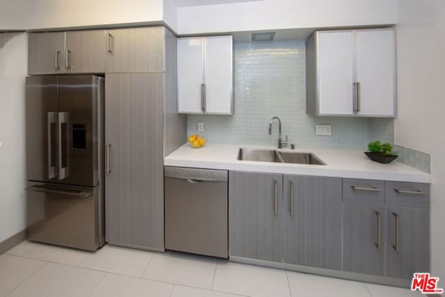
[[[205,39],[205,113],[232,114],[232,36]]]

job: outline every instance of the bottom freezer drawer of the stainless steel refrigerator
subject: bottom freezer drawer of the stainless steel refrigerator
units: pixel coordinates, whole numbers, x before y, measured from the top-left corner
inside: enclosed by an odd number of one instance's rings
[[[82,250],[104,244],[99,186],[29,182],[27,192],[29,240]]]

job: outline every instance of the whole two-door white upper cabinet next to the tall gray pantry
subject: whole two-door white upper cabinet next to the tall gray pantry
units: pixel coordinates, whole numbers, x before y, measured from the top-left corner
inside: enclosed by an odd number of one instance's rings
[[[233,113],[232,36],[178,39],[178,113]]]

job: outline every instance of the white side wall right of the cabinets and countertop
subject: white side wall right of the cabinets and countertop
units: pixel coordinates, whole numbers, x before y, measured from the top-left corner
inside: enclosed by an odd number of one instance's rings
[[[396,144],[431,154],[432,273],[445,287],[445,1],[399,0]]]

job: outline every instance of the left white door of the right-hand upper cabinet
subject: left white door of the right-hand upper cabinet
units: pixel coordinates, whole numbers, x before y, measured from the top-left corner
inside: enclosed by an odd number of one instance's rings
[[[353,31],[318,32],[319,115],[353,114]]]

